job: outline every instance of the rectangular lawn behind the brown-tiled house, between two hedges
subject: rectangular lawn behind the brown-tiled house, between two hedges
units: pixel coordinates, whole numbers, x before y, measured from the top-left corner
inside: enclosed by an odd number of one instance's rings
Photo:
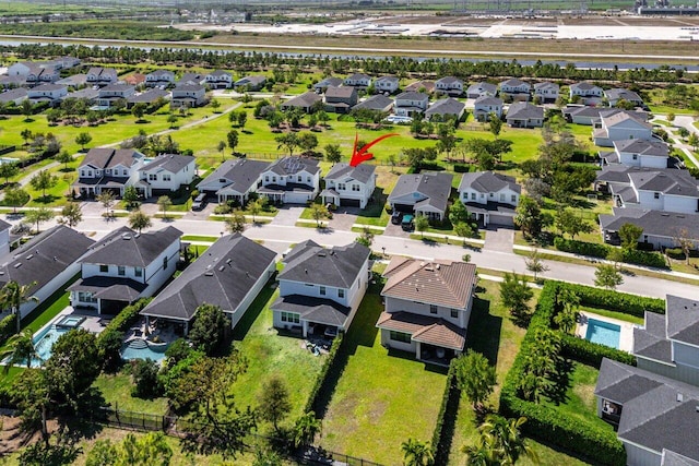
[[[346,366],[323,419],[320,444],[387,465],[401,464],[401,443],[429,440],[445,390],[445,370],[411,354],[387,351],[375,327],[383,306],[367,294],[345,336]]]

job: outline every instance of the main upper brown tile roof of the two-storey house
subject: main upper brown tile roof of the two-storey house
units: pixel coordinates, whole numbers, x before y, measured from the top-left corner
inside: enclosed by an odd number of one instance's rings
[[[464,309],[476,283],[476,266],[457,261],[426,262],[394,256],[386,267],[382,296]]]

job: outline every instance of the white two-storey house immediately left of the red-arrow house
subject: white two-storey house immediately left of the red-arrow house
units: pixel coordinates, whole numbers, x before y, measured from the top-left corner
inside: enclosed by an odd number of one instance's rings
[[[275,204],[304,204],[316,199],[320,189],[320,167],[312,158],[280,158],[261,177],[258,193]]]

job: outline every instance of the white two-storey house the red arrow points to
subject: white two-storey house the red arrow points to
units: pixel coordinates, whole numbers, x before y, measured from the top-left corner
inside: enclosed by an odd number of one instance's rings
[[[320,193],[323,204],[365,208],[376,188],[376,166],[356,167],[339,163],[325,175],[325,189]]]

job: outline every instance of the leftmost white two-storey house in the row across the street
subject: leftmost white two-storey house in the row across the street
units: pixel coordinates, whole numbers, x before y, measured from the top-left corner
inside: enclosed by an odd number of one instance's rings
[[[78,181],[73,192],[82,198],[93,198],[103,191],[122,196],[127,186],[134,186],[142,195],[147,194],[149,184],[141,181],[139,168],[144,155],[132,148],[91,148],[78,167]]]

